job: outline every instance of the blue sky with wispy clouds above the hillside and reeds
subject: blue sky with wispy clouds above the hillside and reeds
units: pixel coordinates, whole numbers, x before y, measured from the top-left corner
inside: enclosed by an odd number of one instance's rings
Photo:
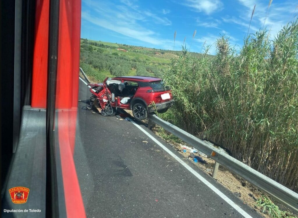
[[[263,27],[268,4],[269,0],[82,0],[81,38],[173,50],[177,31],[175,50],[181,50],[184,37],[188,48],[196,30],[191,51],[201,52],[206,41],[214,54],[215,41],[223,34],[236,49],[243,45],[254,5],[249,33]],[[293,20],[297,4],[272,1],[265,21],[271,39]]]

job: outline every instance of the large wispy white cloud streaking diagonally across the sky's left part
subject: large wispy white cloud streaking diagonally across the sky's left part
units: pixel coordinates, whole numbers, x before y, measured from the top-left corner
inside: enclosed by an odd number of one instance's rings
[[[87,4],[88,10],[82,11],[82,19],[152,45],[159,45],[160,47],[170,45],[170,41],[158,38],[158,33],[142,25],[143,22],[148,21],[161,25],[171,25],[170,20],[159,17],[149,10],[139,10],[133,1],[121,0],[121,2],[123,4],[115,5],[105,1],[85,1],[83,3]]]

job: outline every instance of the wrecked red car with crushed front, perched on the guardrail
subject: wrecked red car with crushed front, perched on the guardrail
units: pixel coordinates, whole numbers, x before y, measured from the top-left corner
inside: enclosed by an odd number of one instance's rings
[[[136,120],[144,120],[147,113],[164,113],[173,105],[170,88],[156,77],[106,78],[103,83],[89,86],[91,99],[104,116],[113,116],[121,108],[132,110]]]

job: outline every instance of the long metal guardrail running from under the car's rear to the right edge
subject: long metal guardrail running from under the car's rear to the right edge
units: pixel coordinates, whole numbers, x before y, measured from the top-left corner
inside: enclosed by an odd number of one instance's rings
[[[252,183],[260,190],[269,194],[271,197],[298,212],[298,194],[294,191],[291,191],[280,183],[277,183],[269,177],[266,177],[260,172],[219,150],[218,148],[211,146],[209,143],[206,143],[205,141],[198,139],[188,132],[179,129],[177,126],[174,126],[173,124],[162,120],[157,115],[148,114],[148,119],[150,123],[154,122],[157,125],[163,127],[170,133],[179,137],[184,142],[193,146],[195,149],[203,152],[211,159],[215,160],[224,167],[228,168],[233,173],[242,177],[244,180]],[[148,127],[150,128],[150,125],[148,125]]]

